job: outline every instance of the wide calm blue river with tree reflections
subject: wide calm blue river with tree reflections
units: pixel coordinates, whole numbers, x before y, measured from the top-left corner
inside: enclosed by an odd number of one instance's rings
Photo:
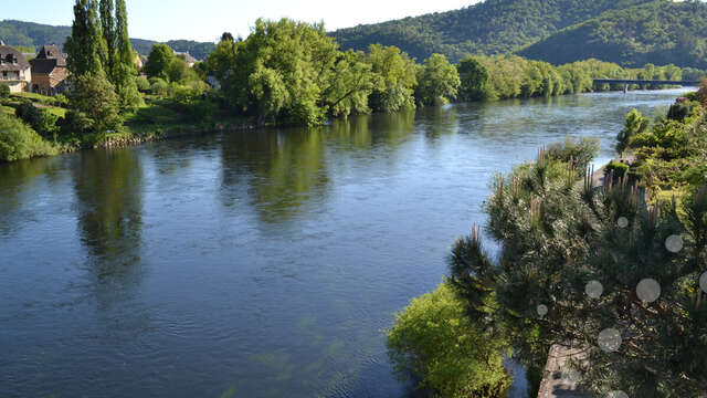
[[[1,397],[408,397],[383,329],[498,171],[680,91],[454,105],[0,165]],[[519,388],[515,396],[521,397]]]

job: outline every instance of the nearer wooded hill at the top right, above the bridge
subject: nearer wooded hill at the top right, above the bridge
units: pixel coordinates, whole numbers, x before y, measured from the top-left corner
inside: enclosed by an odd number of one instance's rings
[[[707,4],[658,0],[569,27],[518,52],[555,64],[589,57],[627,66],[707,69]]]

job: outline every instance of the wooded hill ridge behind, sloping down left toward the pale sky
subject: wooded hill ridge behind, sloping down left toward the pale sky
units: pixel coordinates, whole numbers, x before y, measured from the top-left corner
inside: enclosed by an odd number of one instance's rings
[[[441,53],[453,61],[465,54],[516,51],[552,33],[653,0],[486,0],[461,10],[358,25],[331,32],[342,49],[372,43],[395,45],[422,61]]]

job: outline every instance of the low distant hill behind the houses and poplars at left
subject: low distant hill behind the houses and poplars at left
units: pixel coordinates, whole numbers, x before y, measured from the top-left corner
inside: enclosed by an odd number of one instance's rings
[[[56,44],[62,48],[70,34],[70,27],[53,27],[13,20],[0,22],[0,39],[9,45],[39,48],[44,44]],[[152,40],[130,39],[130,43],[133,43],[135,51],[147,55],[157,42]],[[167,44],[175,51],[189,52],[197,60],[205,59],[207,54],[215,48],[214,43],[196,42],[191,40],[170,40]]]

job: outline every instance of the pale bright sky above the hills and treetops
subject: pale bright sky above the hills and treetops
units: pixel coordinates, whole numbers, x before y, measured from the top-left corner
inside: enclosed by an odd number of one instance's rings
[[[130,38],[217,41],[223,32],[247,36],[257,18],[325,21],[327,30],[449,11],[479,0],[126,0]],[[74,0],[22,0],[1,19],[71,25]]]

